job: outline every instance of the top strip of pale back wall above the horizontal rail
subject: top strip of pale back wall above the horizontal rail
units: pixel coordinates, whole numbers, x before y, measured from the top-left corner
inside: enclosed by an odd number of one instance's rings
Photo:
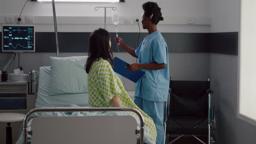
[[[19,14],[26,0],[1,0],[0,13],[1,14]],[[61,16],[102,16],[103,9],[96,12],[95,7],[117,7],[120,15],[138,15],[141,17],[143,12],[142,4],[147,0],[128,0],[125,3],[56,3],[57,14]],[[210,8],[209,1],[205,0],[153,0],[157,2],[162,8],[164,16],[168,15],[203,15],[209,16]],[[187,5],[187,6],[186,6]],[[107,11],[107,13],[110,10]],[[33,12],[33,13],[31,13]],[[40,16],[52,16],[53,9],[51,2],[38,3],[28,2],[26,8],[23,11],[24,15],[40,15]],[[109,13],[108,13],[109,15]]]

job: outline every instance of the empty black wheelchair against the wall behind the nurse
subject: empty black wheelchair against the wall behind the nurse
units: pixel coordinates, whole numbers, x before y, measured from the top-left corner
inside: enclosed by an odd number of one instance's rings
[[[216,121],[214,107],[211,105],[212,93],[210,77],[207,81],[173,81],[170,79],[169,97],[165,104],[165,144],[174,143],[183,136],[193,136],[203,144],[215,143]],[[196,122],[196,124],[184,127],[184,122]],[[207,126],[202,127],[206,122]],[[169,141],[170,135],[176,135],[176,138]],[[201,140],[199,136],[207,136],[207,142]]]

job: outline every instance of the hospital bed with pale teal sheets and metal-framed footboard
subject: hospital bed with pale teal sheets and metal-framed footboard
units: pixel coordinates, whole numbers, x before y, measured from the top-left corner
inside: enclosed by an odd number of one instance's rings
[[[137,110],[88,107],[88,93],[51,96],[50,75],[50,67],[39,68],[36,109],[16,143],[154,143]]]

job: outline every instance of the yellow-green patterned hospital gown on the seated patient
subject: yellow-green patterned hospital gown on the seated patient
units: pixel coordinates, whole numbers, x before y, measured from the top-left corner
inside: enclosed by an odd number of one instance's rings
[[[114,95],[119,95],[123,107],[133,107],[142,113],[144,125],[148,128],[150,137],[156,141],[157,134],[152,118],[133,103],[108,61],[100,59],[91,64],[88,74],[88,91],[89,105],[92,107],[113,107],[110,100]]]

